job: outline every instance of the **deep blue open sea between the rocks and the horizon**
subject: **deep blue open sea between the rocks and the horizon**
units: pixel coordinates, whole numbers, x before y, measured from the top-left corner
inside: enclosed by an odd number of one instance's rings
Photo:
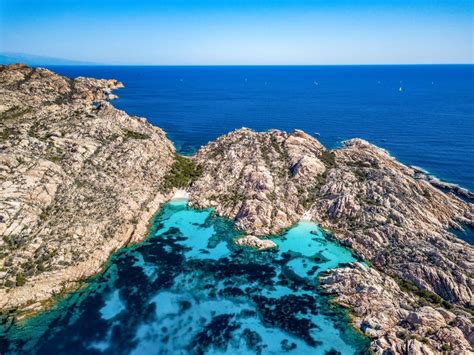
[[[240,127],[299,128],[330,148],[367,139],[474,190],[474,65],[49,68],[120,80],[113,104],[163,128],[183,154]]]

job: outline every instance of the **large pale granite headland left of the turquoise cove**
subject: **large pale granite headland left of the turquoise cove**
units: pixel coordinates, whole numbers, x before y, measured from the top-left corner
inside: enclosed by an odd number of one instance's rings
[[[168,198],[174,147],[105,101],[121,86],[0,66],[0,308],[95,274]]]

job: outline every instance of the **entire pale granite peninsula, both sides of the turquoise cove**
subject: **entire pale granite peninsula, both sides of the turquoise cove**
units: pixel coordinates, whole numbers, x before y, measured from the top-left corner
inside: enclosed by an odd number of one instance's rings
[[[474,248],[449,232],[474,205],[352,139],[327,150],[302,131],[240,129],[176,154],[165,133],[108,100],[114,80],[0,66],[0,308],[42,302],[145,237],[176,188],[268,240],[303,217],[367,260],[322,287],[375,353],[472,353]]]

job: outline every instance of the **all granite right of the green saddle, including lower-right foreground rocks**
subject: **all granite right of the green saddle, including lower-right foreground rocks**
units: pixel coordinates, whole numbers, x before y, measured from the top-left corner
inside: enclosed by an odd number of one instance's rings
[[[413,170],[361,139],[327,151],[301,131],[240,129],[195,159],[204,169],[190,188],[192,204],[215,208],[255,236],[304,215],[370,262],[367,272],[341,273],[335,289],[353,306],[356,327],[374,339],[375,353],[472,350],[465,310],[472,307],[474,248],[440,228],[472,221],[472,205],[415,180]]]

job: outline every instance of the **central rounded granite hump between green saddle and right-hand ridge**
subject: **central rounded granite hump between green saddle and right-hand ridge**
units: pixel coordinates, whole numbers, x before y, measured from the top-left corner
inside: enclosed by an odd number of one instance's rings
[[[232,132],[196,154],[204,174],[192,185],[190,202],[215,208],[249,233],[278,233],[310,206],[307,190],[326,171],[325,153],[301,131]]]

